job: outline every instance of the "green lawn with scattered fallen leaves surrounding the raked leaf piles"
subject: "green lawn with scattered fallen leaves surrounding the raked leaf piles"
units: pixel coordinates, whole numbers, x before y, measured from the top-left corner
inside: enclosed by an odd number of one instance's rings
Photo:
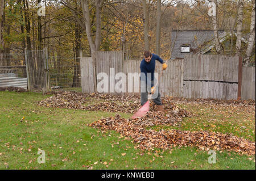
[[[51,95],[0,91],[0,169],[88,169],[91,166],[93,169],[255,169],[255,156],[234,152],[217,151],[216,164],[210,164],[207,151],[197,148],[151,152],[136,149],[132,140],[114,131],[102,133],[86,127],[102,116],[114,116],[114,112],[37,106],[36,102],[48,96]],[[222,113],[213,117],[214,110],[204,106],[179,106],[197,115],[185,118],[184,124],[176,129],[232,132],[255,140],[254,113],[241,112],[243,121],[238,121],[232,117],[234,112],[226,118]],[[121,113],[121,116],[130,115]],[[216,119],[214,123],[208,123],[210,117]],[[222,123],[222,119],[227,121]],[[205,124],[216,127],[205,127]],[[248,131],[236,131],[241,125]],[[45,164],[37,161],[39,149],[46,153]]]

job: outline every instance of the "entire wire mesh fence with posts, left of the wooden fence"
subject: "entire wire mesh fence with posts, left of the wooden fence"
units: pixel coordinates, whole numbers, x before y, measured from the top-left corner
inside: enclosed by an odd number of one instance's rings
[[[48,57],[47,49],[0,54],[0,77],[27,78],[28,90],[81,91],[79,57]]]

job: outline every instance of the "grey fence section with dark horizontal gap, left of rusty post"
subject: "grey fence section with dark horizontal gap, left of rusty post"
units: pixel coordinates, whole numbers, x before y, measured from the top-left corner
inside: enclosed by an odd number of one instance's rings
[[[238,57],[189,54],[184,82],[184,98],[237,99]]]

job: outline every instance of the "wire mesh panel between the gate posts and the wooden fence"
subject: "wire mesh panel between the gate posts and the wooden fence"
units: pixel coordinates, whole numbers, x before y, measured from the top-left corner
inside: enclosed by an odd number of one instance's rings
[[[52,89],[81,87],[79,57],[51,56],[48,65]]]

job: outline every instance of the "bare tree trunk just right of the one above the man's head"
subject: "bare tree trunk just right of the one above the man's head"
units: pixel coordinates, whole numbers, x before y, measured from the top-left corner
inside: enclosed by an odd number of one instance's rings
[[[160,38],[161,38],[161,0],[158,0],[156,7],[156,41],[155,41],[155,51],[156,54],[160,56]]]

